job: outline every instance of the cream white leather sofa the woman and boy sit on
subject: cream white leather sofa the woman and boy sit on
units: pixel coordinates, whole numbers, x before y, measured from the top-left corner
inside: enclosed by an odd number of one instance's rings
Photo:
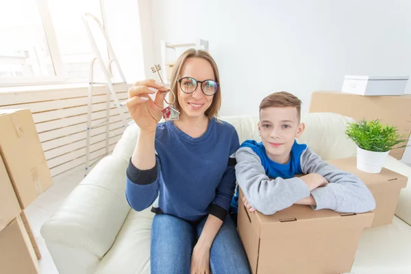
[[[256,117],[224,117],[240,142],[260,140]],[[345,137],[353,120],[338,114],[303,114],[306,142],[324,160],[356,154]],[[112,155],[95,166],[63,205],[42,226],[41,234],[61,274],[150,273],[153,213],[130,210],[125,199],[125,170],[138,127],[130,125]],[[411,167],[388,156],[386,167],[411,177]],[[409,180],[410,181],[410,180]],[[401,191],[393,223],[365,229],[352,273],[411,273],[411,183]]]

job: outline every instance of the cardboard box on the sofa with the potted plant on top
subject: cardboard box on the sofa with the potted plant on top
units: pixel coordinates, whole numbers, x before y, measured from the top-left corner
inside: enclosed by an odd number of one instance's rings
[[[408,177],[385,168],[377,174],[360,171],[357,169],[356,157],[329,160],[327,162],[338,167],[338,169],[357,175],[369,188],[376,203],[373,227],[387,225],[393,221],[399,192],[401,188],[407,186]]]

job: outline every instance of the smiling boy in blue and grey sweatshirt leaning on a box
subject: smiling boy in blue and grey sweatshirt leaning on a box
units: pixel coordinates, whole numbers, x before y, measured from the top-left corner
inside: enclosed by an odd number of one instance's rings
[[[288,92],[262,100],[258,123],[262,142],[247,140],[236,151],[236,178],[247,210],[268,215],[295,203],[336,212],[373,210],[373,195],[356,175],[327,164],[295,141],[305,128],[300,112],[301,101]],[[299,174],[306,175],[295,177]],[[236,201],[238,191],[234,208]]]

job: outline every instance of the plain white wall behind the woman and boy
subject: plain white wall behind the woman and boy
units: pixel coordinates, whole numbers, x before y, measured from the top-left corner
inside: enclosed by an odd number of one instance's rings
[[[261,99],[280,90],[306,112],[312,91],[340,90],[345,74],[411,75],[410,10],[408,0],[153,0],[145,54],[160,62],[161,39],[209,40],[221,115],[257,114]]]

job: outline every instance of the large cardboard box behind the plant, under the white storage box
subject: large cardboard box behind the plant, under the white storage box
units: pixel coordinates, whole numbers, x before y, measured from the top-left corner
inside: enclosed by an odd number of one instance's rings
[[[399,134],[411,134],[411,95],[367,97],[341,92],[312,92],[310,112],[334,112],[356,121],[380,119],[393,125]],[[400,160],[405,148],[393,149],[390,155]]]

